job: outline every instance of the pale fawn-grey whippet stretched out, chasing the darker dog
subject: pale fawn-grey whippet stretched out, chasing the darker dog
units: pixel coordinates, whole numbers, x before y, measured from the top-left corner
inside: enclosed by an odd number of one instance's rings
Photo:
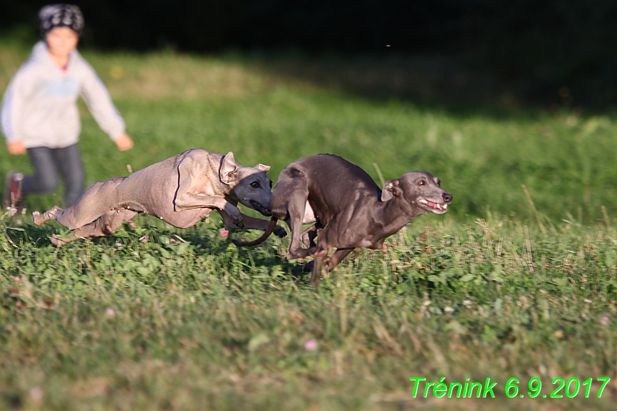
[[[35,224],[55,219],[74,230],[66,239],[52,237],[61,246],[76,239],[108,237],[139,212],[159,217],[172,226],[194,226],[213,209],[223,218],[227,229],[269,228],[266,219],[242,214],[237,204],[271,216],[272,181],[266,176],[267,165],[242,167],[232,152],[220,155],[192,149],[157,162],[128,177],[95,182],[67,209],[54,206],[40,214],[33,212]],[[286,235],[283,227],[277,236]]]

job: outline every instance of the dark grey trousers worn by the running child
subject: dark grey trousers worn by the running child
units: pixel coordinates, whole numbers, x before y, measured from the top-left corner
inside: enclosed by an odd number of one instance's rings
[[[34,169],[33,176],[24,178],[21,190],[28,193],[47,194],[58,188],[58,172],[64,180],[64,207],[77,201],[85,184],[85,175],[78,145],[64,148],[28,148],[28,157]]]

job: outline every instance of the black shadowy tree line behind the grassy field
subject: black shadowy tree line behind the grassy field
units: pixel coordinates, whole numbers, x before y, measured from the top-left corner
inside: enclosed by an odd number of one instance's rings
[[[45,1],[0,3],[0,30],[36,29]],[[614,0],[83,0],[83,43],[180,51],[299,48],[308,53],[457,53],[537,95],[567,86],[617,103]]]

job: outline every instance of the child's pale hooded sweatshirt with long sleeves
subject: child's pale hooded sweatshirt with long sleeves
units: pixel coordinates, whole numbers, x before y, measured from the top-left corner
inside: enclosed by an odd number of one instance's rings
[[[63,70],[39,41],[4,93],[0,121],[7,142],[21,140],[26,148],[75,144],[81,131],[79,95],[112,140],[125,133],[107,88],[78,51],[71,52]]]

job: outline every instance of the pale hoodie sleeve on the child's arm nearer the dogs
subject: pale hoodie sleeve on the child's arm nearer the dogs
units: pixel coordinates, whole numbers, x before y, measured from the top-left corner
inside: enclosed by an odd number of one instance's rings
[[[85,76],[81,84],[81,96],[99,127],[115,140],[125,133],[124,120],[115,109],[103,81],[88,63],[85,61],[83,63],[85,63]]]

